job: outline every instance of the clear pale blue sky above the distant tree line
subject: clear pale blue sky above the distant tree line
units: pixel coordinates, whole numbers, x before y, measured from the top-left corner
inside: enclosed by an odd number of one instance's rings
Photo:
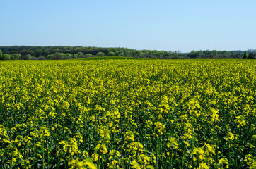
[[[256,48],[255,0],[0,1],[0,46]]]

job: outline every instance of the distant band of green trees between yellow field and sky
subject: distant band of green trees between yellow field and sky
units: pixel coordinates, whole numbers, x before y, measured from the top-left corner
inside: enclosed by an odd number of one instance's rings
[[[127,56],[158,59],[256,58],[256,49],[248,51],[179,51],[135,50],[83,46],[0,46],[0,60],[58,60],[95,56]]]

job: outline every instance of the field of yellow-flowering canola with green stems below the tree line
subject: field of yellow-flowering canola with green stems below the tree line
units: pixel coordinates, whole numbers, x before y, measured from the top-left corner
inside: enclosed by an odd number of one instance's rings
[[[256,61],[0,68],[0,168],[256,168]]]

